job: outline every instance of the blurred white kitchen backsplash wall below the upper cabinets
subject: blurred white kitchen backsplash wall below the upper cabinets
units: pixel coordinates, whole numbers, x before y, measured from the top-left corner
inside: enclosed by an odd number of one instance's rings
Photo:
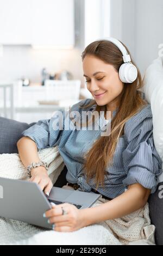
[[[33,50],[30,46],[4,46],[0,57],[0,81],[17,80],[25,76],[41,82],[41,70],[58,72],[66,69],[74,78],[82,77],[81,52],[74,50]]]

